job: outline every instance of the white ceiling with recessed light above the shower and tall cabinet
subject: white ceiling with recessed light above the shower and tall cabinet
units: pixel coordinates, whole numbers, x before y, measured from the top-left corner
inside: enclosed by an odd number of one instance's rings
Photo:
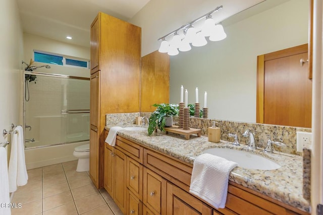
[[[17,0],[23,32],[90,46],[90,25],[98,12],[128,21],[149,0]],[[66,36],[72,36],[72,40]]]

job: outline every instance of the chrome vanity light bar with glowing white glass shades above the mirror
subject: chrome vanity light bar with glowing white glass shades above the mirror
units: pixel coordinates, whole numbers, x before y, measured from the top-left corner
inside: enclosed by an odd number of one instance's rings
[[[187,23],[175,31],[160,37],[158,41],[161,41],[160,47],[158,49],[161,53],[168,53],[169,55],[177,55],[180,51],[191,50],[191,45],[193,46],[203,46],[207,44],[205,37],[209,37],[210,41],[220,41],[227,37],[223,26],[221,24],[216,24],[213,20],[212,15],[214,12],[218,12],[223,8],[219,6],[216,9],[210,11],[209,13],[195,19],[194,21]],[[204,24],[201,29],[196,29],[194,23],[205,18]],[[170,41],[167,37],[173,35]]]

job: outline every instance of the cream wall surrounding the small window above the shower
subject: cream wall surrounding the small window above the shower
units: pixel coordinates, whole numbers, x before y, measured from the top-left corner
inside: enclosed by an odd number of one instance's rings
[[[90,48],[60,42],[32,34],[24,33],[24,58],[23,60],[29,64],[30,59],[33,59],[33,50],[45,51],[55,54],[63,54],[71,57],[90,59]],[[35,65],[43,65],[44,63],[35,62]],[[86,68],[74,68],[61,65],[50,64],[51,68],[37,68],[40,73],[63,74],[70,76],[90,77],[90,70]],[[23,64],[23,68],[26,65]]]

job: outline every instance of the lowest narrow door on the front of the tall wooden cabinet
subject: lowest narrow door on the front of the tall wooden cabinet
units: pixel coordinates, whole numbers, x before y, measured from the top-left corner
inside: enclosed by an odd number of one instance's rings
[[[90,129],[90,178],[94,185],[98,188],[98,164],[99,164],[99,132],[97,127],[91,125]]]

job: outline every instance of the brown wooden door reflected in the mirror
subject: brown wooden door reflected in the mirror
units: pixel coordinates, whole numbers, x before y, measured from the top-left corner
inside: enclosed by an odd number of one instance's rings
[[[259,58],[263,59],[262,75]],[[307,44],[258,56],[257,122],[311,127],[312,82],[300,59],[307,59]],[[258,100],[261,84],[262,101]]]

